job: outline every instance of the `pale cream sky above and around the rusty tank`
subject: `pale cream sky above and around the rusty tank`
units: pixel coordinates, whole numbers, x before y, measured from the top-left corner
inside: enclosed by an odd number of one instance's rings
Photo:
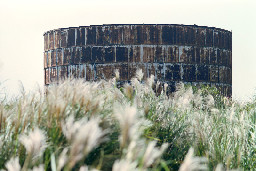
[[[255,0],[0,0],[0,82],[43,86],[43,33],[101,24],[197,24],[232,31],[233,96],[256,95]]]

